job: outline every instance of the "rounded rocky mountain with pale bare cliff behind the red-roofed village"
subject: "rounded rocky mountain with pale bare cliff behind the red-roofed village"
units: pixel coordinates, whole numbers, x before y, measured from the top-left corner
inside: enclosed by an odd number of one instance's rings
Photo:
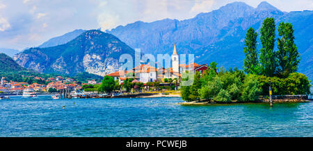
[[[120,55],[134,56],[134,49],[117,37],[100,30],[88,30],[66,44],[48,48],[29,48],[15,55],[27,69],[42,73],[93,73],[106,75],[118,69]]]

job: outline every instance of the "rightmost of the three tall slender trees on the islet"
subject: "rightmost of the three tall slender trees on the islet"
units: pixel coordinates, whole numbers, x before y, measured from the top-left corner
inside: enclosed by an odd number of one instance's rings
[[[298,70],[300,53],[294,43],[294,28],[290,23],[281,22],[278,26],[278,73],[287,77]]]

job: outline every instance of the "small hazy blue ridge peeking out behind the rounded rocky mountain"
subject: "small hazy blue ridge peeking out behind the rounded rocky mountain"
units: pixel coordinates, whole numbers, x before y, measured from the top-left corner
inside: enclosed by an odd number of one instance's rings
[[[38,47],[39,48],[47,48],[47,47],[51,47],[51,46],[58,46],[61,44],[66,44],[67,42],[70,42],[72,39],[78,37],[79,35],[81,35],[85,31],[86,30],[77,29],[77,30],[74,30],[70,33],[65,33],[64,35],[49,39],[47,42],[44,42],[43,44],[41,44]]]

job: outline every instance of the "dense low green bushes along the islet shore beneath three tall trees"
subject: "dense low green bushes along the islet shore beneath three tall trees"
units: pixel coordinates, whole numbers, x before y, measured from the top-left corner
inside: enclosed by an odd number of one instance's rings
[[[212,69],[212,66],[208,69]],[[193,85],[183,86],[181,94],[182,99],[188,102],[200,99],[218,103],[230,103],[232,100],[238,103],[254,102],[259,100],[259,96],[268,96],[270,79],[273,95],[310,94],[310,81],[302,73],[291,73],[287,78],[278,78],[246,75],[238,69],[220,69],[220,73],[206,71],[202,75],[196,72]]]

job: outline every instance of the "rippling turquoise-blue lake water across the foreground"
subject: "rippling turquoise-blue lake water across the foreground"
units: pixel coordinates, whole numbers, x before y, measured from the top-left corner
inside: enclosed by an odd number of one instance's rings
[[[313,103],[191,107],[175,105],[181,98],[10,98],[0,100],[0,136],[313,136]]]

